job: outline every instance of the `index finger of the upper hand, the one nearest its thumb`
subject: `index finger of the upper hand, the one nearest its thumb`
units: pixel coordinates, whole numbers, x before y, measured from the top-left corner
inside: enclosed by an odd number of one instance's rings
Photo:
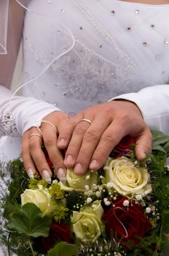
[[[125,137],[124,126],[119,121],[113,121],[109,127],[103,132],[98,146],[95,148],[93,157],[90,162],[91,170],[98,170],[109,157],[112,149],[117,146],[119,141]]]

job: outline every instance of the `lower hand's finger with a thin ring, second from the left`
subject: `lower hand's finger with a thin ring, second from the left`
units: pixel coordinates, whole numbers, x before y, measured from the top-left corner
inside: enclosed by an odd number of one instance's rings
[[[50,170],[50,167],[47,164],[47,160],[44,156],[44,152],[42,151],[42,139],[38,136],[32,137],[29,140],[29,151],[42,178],[50,184],[52,171]]]

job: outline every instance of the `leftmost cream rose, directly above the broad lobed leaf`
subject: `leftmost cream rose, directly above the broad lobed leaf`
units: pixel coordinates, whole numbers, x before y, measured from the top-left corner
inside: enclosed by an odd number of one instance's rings
[[[51,200],[48,189],[44,189],[41,185],[38,189],[25,189],[20,197],[22,206],[25,203],[34,203],[46,215],[50,215],[56,206],[54,201]]]

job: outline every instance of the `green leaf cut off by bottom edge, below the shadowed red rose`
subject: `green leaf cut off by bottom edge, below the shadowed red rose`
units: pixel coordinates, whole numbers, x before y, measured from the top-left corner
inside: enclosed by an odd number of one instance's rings
[[[75,244],[67,244],[66,242],[61,241],[50,249],[47,256],[74,256],[77,252],[78,247]]]

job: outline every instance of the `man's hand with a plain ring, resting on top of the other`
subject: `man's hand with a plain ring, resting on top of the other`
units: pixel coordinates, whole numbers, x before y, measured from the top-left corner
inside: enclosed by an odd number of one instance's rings
[[[82,174],[87,167],[98,170],[126,135],[135,138],[138,159],[151,153],[152,134],[140,110],[133,102],[117,100],[94,105],[68,119],[60,131],[58,146],[67,148],[66,167],[74,167],[76,174]]]

